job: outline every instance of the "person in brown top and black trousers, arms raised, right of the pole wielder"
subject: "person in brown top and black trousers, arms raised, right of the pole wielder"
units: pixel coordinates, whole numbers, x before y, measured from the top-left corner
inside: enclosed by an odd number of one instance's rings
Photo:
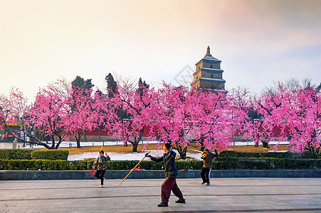
[[[214,149],[215,153],[211,153],[208,148],[205,149],[204,153],[202,153],[201,158],[203,159],[203,168],[201,168],[201,179],[203,182],[201,184],[206,183],[206,185],[211,185],[209,182],[209,178],[211,176],[213,159],[219,155],[216,149]]]

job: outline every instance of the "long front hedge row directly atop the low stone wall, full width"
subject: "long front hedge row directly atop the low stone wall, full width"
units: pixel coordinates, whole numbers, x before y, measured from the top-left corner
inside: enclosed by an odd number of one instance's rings
[[[107,170],[131,170],[138,160],[110,160]],[[0,170],[91,170],[94,160],[0,160]],[[177,169],[200,170],[201,160],[178,160]],[[164,164],[143,160],[138,166],[145,170],[163,170]],[[219,158],[214,170],[300,170],[321,169],[321,159],[285,158]]]

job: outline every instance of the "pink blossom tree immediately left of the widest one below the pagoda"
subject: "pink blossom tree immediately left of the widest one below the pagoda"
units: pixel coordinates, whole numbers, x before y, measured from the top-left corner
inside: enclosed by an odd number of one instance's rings
[[[109,119],[105,126],[107,129],[112,129],[115,138],[122,140],[124,145],[131,143],[132,152],[137,152],[137,146],[142,140],[144,130],[152,126],[149,111],[155,100],[154,89],[149,89],[149,85],[141,79],[138,88],[133,87],[132,84],[123,84],[110,98],[112,102],[109,104],[112,106],[110,115],[115,116],[116,114],[117,119]]]

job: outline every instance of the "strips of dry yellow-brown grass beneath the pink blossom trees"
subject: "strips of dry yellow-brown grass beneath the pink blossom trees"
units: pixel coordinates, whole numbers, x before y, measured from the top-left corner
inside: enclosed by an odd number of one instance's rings
[[[69,155],[75,155],[75,154],[81,154],[81,153],[94,153],[94,152],[99,152],[100,148],[102,148],[103,151],[109,153],[132,153],[132,145],[130,146],[85,146],[82,148],[58,148],[59,150],[68,150]],[[148,150],[155,150],[157,149],[157,144],[149,144],[147,146],[147,151]],[[46,150],[46,149],[44,149]],[[194,148],[194,146],[189,146],[189,149],[187,152],[189,153],[197,153],[196,151],[200,151],[200,147]],[[268,153],[268,151],[273,151],[273,145],[270,145],[270,148],[263,148],[262,146],[231,146],[229,149],[231,151],[236,151],[236,152],[241,152],[241,153]],[[288,145],[280,145],[278,146],[278,151],[287,151],[288,150]],[[137,151],[140,152],[142,151],[142,145],[138,145]]]

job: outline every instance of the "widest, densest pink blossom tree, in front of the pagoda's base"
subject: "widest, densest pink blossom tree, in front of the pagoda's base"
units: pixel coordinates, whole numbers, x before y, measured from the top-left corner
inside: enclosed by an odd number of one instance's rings
[[[231,145],[233,119],[226,94],[164,84],[158,91],[159,140],[172,143],[182,159],[191,141],[225,150]]]

